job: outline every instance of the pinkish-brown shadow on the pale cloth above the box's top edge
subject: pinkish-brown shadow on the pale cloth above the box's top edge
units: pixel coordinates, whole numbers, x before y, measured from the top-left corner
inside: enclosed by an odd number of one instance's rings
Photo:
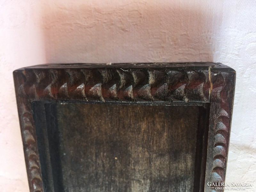
[[[175,3],[87,2],[44,8],[48,63],[214,61],[222,20],[216,11]]]

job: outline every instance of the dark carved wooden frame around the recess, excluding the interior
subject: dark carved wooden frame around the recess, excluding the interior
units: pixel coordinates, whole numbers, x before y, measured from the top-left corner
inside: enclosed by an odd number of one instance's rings
[[[13,76],[31,192],[44,191],[30,105],[35,100],[210,103],[200,190],[213,192],[207,183],[225,180],[236,78],[232,68],[220,63],[55,64],[21,68]]]

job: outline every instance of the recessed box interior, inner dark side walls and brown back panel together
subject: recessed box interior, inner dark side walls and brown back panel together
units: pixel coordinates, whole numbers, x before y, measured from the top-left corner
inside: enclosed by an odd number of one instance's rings
[[[207,103],[31,106],[46,191],[199,191]]]

